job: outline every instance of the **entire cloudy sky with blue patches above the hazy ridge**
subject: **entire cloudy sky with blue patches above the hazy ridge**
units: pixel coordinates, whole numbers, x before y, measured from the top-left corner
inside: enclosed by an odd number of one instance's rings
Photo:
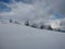
[[[62,22],[64,4],[65,0],[0,0],[0,16]]]

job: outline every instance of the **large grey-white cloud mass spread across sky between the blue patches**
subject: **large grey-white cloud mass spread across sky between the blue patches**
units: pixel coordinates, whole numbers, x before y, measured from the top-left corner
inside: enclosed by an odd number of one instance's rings
[[[25,1],[27,2],[29,0]],[[42,19],[42,21],[49,22],[51,17],[55,16],[55,13],[60,12],[63,15],[65,14],[65,0],[31,0],[31,4],[28,4],[13,1],[13,3],[6,4],[12,9],[12,11],[0,13],[0,15],[4,17],[17,17],[25,21],[38,21]]]

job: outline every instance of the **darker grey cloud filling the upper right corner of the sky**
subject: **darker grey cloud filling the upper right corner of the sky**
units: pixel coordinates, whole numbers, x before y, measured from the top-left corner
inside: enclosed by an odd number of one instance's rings
[[[48,2],[54,9],[55,12],[65,14],[65,0],[48,0]]]

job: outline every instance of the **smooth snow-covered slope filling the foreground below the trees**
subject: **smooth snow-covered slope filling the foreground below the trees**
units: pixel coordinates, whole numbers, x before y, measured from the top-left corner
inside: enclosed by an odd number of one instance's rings
[[[0,49],[65,49],[65,34],[0,23]]]

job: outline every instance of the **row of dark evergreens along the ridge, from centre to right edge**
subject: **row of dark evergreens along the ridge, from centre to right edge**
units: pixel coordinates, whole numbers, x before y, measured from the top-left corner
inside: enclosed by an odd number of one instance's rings
[[[65,33],[65,30],[61,30],[60,28],[52,28],[50,25],[42,24],[42,25],[38,26],[36,23],[30,25],[29,21],[26,21],[25,25],[34,27],[34,28],[39,28],[39,29],[49,29],[49,30],[55,30],[55,32],[63,32],[63,33]]]

